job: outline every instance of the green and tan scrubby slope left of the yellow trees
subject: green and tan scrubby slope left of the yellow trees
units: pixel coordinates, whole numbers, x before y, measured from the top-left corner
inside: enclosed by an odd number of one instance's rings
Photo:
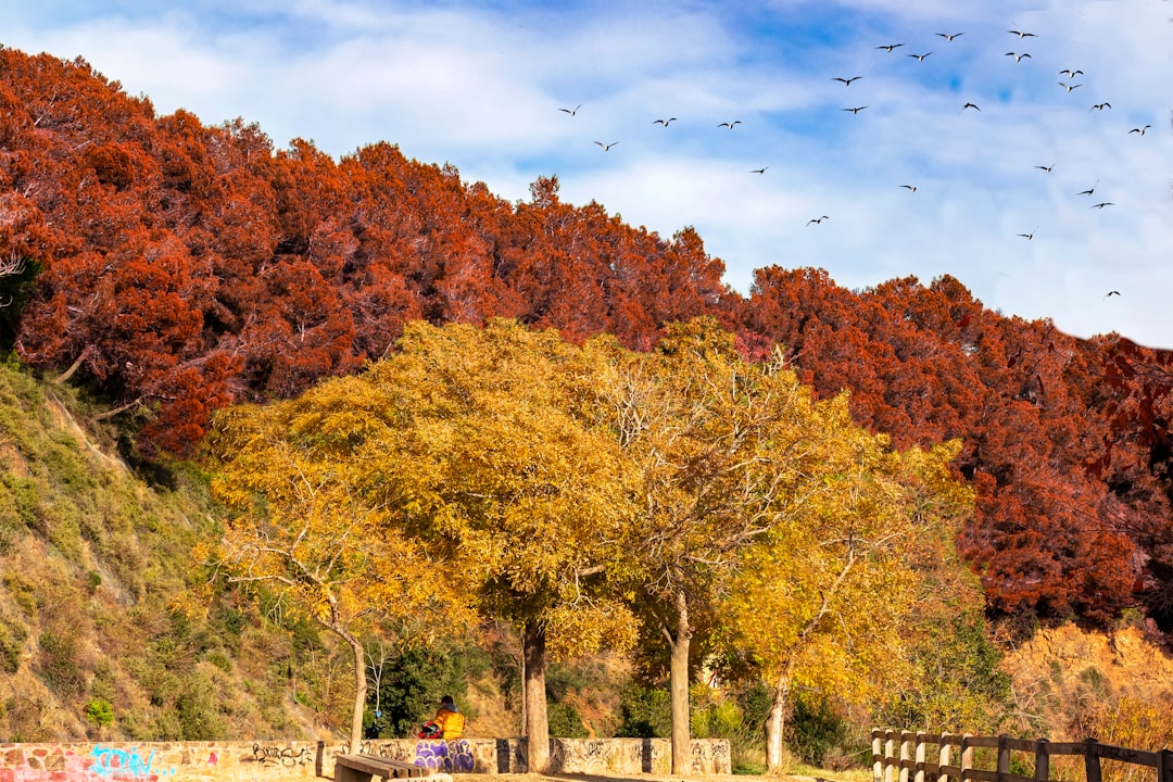
[[[191,545],[217,533],[201,476],[145,482],[93,413],[0,366],[0,736],[314,735],[291,674],[312,693],[318,672],[292,633],[230,596],[176,610],[206,576]]]

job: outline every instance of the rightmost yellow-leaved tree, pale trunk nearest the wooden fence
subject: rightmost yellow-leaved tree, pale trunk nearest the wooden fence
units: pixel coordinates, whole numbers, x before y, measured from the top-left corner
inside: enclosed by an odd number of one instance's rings
[[[856,427],[847,397],[813,409],[808,469],[781,492],[769,533],[741,551],[721,606],[726,664],[769,689],[767,770],[782,769],[794,693],[867,702],[908,684],[904,644],[924,603],[922,552],[970,512],[949,462],[960,443],[893,451]],[[950,529],[956,529],[950,526]]]

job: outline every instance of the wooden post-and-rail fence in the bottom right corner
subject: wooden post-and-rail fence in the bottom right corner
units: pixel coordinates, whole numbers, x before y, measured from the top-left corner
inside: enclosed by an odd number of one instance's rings
[[[931,760],[929,760],[931,759]],[[1079,762],[1077,759],[1082,759]],[[1057,760],[1057,763],[1052,763]],[[1065,762],[1064,762],[1065,761]],[[1085,741],[1030,741],[1010,736],[974,736],[872,732],[872,776],[874,782],[1044,782],[1071,778],[1104,782],[1103,761],[1127,764],[1125,778],[1137,773],[1152,782],[1173,782],[1173,752],[1146,752]],[[1055,776],[1056,768],[1074,774]],[[1079,767],[1083,774],[1079,774]],[[1013,770],[1011,770],[1013,769]],[[1107,775],[1121,778],[1119,773]]]

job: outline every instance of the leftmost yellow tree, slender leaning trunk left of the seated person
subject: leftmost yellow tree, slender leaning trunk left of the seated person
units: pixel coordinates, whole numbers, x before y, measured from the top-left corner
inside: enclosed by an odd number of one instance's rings
[[[436,551],[371,490],[371,476],[395,458],[384,447],[386,402],[364,379],[335,379],[296,400],[225,410],[208,440],[212,491],[233,511],[211,552],[217,573],[264,584],[283,611],[347,644],[352,747],[366,705],[364,635],[421,613],[470,612],[463,596],[432,589]]]

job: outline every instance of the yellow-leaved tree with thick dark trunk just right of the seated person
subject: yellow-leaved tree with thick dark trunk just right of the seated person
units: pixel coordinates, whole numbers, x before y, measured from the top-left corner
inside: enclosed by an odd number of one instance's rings
[[[598,412],[604,358],[508,320],[411,324],[367,374],[398,396],[386,504],[459,551],[481,612],[521,632],[531,771],[549,762],[548,654],[635,639],[633,616],[608,589],[630,497]]]

